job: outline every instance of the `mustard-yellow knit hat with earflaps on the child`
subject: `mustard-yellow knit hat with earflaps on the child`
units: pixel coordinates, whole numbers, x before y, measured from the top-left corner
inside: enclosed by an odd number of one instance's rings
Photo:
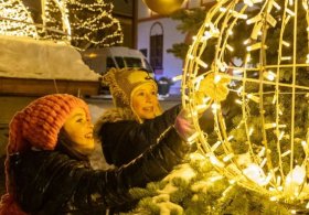
[[[129,108],[132,111],[131,96],[134,90],[143,84],[151,84],[156,90],[158,85],[154,79],[142,68],[110,68],[104,76],[103,83],[108,85],[117,108]],[[157,116],[161,115],[158,104]],[[137,118],[139,118],[137,116]]]

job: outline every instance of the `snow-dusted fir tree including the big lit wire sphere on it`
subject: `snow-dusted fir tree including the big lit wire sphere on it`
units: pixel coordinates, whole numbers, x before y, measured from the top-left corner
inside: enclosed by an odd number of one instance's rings
[[[131,190],[141,200],[129,214],[307,213],[308,13],[308,1],[292,0],[222,0],[207,11],[182,79],[198,151],[161,182]],[[232,78],[224,103],[205,93],[210,74]],[[205,107],[213,131],[198,117]]]

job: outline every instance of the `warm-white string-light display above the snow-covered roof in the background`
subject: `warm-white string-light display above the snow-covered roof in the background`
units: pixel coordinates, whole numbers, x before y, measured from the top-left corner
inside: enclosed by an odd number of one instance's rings
[[[66,42],[79,50],[121,44],[124,35],[111,15],[113,7],[100,0],[42,0],[38,15],[22,0],[3,0],[0,33]]]

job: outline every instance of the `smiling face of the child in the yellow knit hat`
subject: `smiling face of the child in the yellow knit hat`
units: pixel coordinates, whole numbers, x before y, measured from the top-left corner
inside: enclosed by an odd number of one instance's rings
[[[152,84],[138,86],[132,94],[134,111],[141,119],[153,119],[158,111],[159,101],[157,90]]]

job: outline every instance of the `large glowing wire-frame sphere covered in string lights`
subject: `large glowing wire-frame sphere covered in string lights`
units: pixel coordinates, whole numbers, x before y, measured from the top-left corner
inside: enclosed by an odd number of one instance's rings
[[[295,207],[309,206],[308,3],[217,1],[189,49],[182,79],[182,104],[204,157],[231,182]],[[203,93],[211,73],[214,82],[232,78],[227,101]],[[199,118],[205,107],[214,133]]]

